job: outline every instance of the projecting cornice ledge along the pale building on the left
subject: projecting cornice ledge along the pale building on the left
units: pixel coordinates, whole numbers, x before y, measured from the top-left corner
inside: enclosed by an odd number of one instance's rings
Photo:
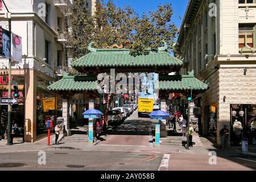
[[[0,13],[0,20],[6,20],[5,13]],[[24,19],[31,19],[34,20],[36,23],[39,24],[40,27],[43,28],[44,31],[46,31],[48,34],[53,36],[54,38],[57,38],[57,33],[46,23],[38,14],[36,13],[11,13],[11,19],[12,20],[24,20]]]

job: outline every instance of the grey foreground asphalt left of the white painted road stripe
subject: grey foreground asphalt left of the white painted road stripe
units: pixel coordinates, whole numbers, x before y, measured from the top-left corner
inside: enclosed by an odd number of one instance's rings
[[[162,154],[131,151],[46,151],[46,164],[40,156],[38,151],[2,153],[0,170],[156,171],[162,160]]]

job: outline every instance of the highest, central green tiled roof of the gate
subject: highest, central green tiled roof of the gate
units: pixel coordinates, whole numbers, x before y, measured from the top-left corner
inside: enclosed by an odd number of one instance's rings
[[[166,67],[181,66],[183,62],[166,51],[150,51],[148,55],[131,56],[129,49],[95,49],[73,61],[76,67]]]

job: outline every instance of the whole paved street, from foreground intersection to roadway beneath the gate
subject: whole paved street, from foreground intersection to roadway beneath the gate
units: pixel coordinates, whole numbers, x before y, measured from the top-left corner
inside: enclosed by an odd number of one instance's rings
[[[242,156],[234,150],[217,150],[201,138],[203,147],[154,146],[151,131],[155,121],[138,118],[137,111],[97,144],[61,143],[47,146],[46,140],[0,147],[0,170],[255,170],[256,156]],[[29,147],[28,147],[29,146]],[[39,164],[39,151],[46,152],[46,164]],[[209,164],[209,151],[217,152],[216,164]]]

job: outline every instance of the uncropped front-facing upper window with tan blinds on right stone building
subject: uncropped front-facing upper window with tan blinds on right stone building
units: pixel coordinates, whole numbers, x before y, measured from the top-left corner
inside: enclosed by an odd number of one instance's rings
[[[239,25],[239,48],[254,47],[254,31],[253,25]]]

